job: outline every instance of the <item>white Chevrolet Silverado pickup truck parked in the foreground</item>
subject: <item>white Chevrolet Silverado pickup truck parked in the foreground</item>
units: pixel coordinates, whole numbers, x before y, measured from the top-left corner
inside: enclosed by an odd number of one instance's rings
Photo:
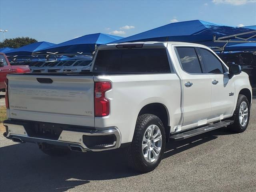
[[[184,42],[102,45],[90,72],[9,74],[6,90],[6,138],[52,156],[127,147],[142,172],[158,166],[168,141],[243,132],[252,104],[240,66]]]

